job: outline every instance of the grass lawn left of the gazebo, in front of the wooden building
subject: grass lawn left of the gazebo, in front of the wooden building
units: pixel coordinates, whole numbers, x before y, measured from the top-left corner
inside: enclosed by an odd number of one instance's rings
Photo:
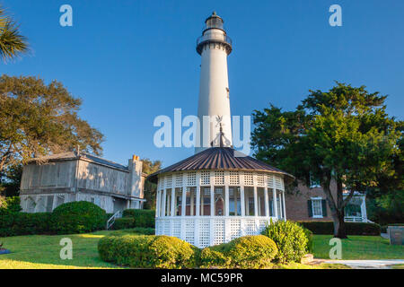
[[[97,244],[107,234],[133,233],[131,230],[97,231],[72,235],[29,235],[0,238],[4,248],[12,253],[0,256],[0,269],[75,269],[75,268],[117,268],[101,261]],[[60,259],[63,248],[60,239],[69,238],[73,242],[73,259]]]

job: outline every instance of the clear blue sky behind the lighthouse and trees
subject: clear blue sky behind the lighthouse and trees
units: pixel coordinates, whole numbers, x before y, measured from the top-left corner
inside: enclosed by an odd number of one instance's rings
[[[233,115],[269,103],[294,109],[309,89],[337,80],[388,94],[403,119],[404,1],[90,1],[0,0],[30,39],[31,55],[1,74],[57,79],[83,99],[80,115],[106,136],[105,158],[131,154],[167,166],[193,149],[154,147],[154,117],[195,115],[200,57],[195,43],[206,17],[224,18],[233,39],[228,59]],[[73,27],[59,7],[73,7]],[[329,6],[342,27],[329,26]]]

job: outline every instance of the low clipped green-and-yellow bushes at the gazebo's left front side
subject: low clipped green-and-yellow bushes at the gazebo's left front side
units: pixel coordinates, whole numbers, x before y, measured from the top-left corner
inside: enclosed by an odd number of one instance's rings
[[[100,239],[102,260],[139,268],[191,268],[196,265],[197,248],[169,236],[108,236]]]

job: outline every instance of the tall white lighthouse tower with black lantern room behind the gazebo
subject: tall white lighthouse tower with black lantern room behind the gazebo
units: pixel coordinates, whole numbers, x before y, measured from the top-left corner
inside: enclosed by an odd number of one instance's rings
[[[195,153],[211,146],[233,145],[227,76],[227,56],[232,52],[232,40],[224,30],[223,19],[215,12],[205,23],[202,36],[197,41],[197,51],[202,57],[202,64],[198,101],[200,126]],[[223,134],[220,132],[221,128]]]

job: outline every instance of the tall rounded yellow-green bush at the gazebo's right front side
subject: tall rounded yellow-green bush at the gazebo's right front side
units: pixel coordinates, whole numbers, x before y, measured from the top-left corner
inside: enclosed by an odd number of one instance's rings
[[[276,259],[281,264],[300,263],[302,257],[308,252],[309,239],[307,239],[303,227],[294,222],[271,222],[261,234],[275,241],[278,249]]]

